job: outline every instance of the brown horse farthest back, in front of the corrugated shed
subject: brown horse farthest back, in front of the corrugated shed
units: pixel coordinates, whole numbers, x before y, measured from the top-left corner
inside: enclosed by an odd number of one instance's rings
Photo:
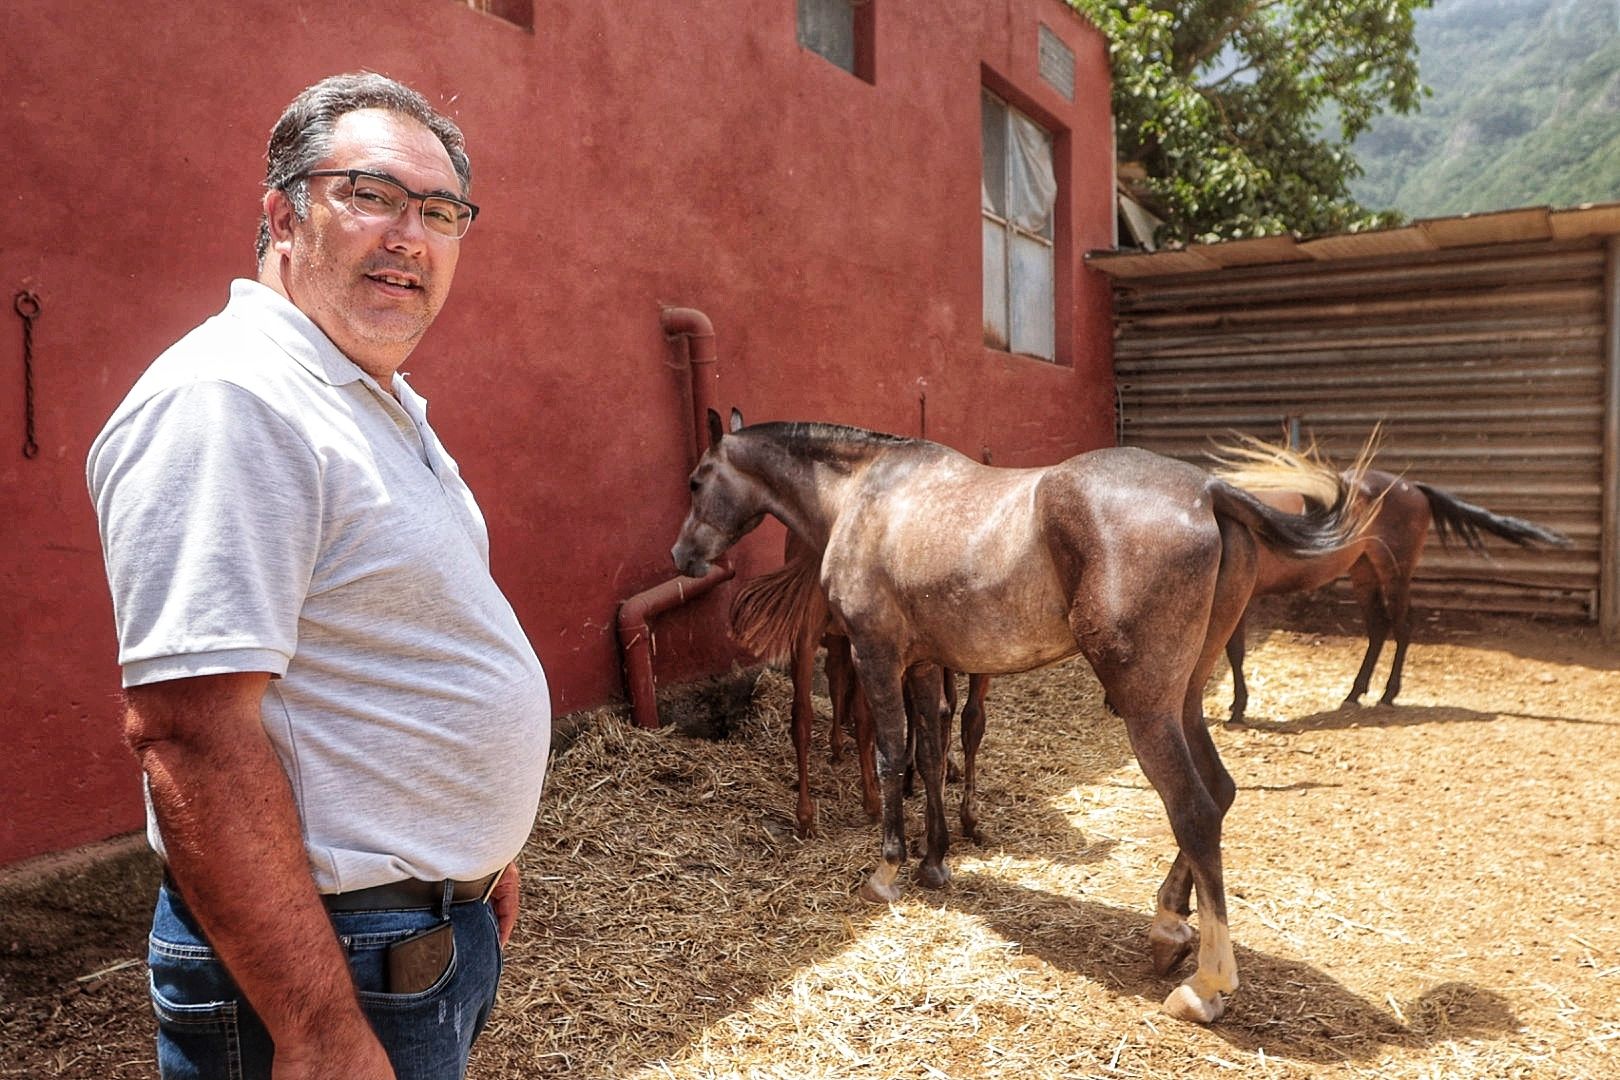
[[[1256,491],[1270,505],[1298,513],[1309,495],[1272,487],[1280,474],[1270,463],[1280,455],[1291,453],[1296,452],[1257,442],[1228,447],[1217,455],[1225,466],[1215,474],[1239,487]],[[1314,449],[1307,449],[1299,457],[1322,463]],[[1246,466],[1252,463],[1260,465],[1259,473],[1246,471]],[[1390,662],[1390,677],[1383,683],[1383,696],[1379,698],[1379,703],[1392,704],[1401,690],[1401,670],[1406,665],[1406,646],[1411,641],[1413,572],[1422,557],[1430,521],[1440,534],[1442,546],[1450,547],[1455,536],[1476,554],[1486,551],[1481,531],[1500,536],[1520,547],[1570,542],[1567,536],[1554,529],[1523,518],[1492,513],[1439,487],[1390,473],[1364,468],[1359,470],[1359,479],[1345,473],[1345,481],[1349,484],[1353,504],[1366,507],[1371,513],[1366,529],[1338,552],[1319,559],[1286,559],[1262,551],[1254,583],[1256,596],[1278,596],[1307,593],[1349,575],[1356,604],[1367,625],[1367,654],[1361,661],[1361,670],[1356,672],[1356,682],[1351,685],[1345,704],[1359,704],[1361,696],[1367,693],[1372,669],[1392,633],[1395,635],[1395,659]],[[1241,724],[1249,704],[1249,688],[1243,682],[1246,622],[1247,610],[1244,619],[1238,620],[1238,627],[1226,643],[1233,685],[1228,724]]]

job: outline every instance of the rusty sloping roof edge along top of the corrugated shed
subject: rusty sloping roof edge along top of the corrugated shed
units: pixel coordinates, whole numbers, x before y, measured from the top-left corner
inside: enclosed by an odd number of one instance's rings
[[[1568,209],[1544,206],[1456,217],[1429,217],[1398,228],[1330,236],[1264,236],[1170,251],[1092,251],[1087,266],[1110,277],[1204,274],[1234,266],[1336,262],[1372,256],[1414,254],[1443,248],[1481,248],[1536,240],[1583,240],[1620,235],[1620,202]]]

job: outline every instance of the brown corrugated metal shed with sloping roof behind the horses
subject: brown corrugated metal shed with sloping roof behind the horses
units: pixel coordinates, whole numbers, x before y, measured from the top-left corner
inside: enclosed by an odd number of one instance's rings
[[[1121,442],[1207,463],[1293,419],[1348,460],[1382,427],[1380,468],[1575,541],[1432,544],[1416,602],[1620,633],[1620,204],[1087,261],[1115,282]]]

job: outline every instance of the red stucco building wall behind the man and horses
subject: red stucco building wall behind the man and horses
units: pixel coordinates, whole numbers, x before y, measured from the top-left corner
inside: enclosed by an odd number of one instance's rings
[[[139,826],[84,453],[162,348],[253,274],[266,134],[369,68],[462,123],[483,206],[407,364],[489,518],[559,712],[620,693],[617,602],[672,573],[688,406],[658,308],[705,311],[747,419],[927,434],[998,465],[1113,440],[1102,39],[1059,0],[875,0],[875,79],[800,49],[792,0],[23,0],[0,34],[0,863]],[[1076,102],[1037,74],[1037,24]],[[980,343],[978,96],[1059,131],[1063,363]],[[24,460],[19,288],[40,453]],[[773,565],[778,529],[742,551]],[[658,674],[724,665],[729,589],[658,625]]]

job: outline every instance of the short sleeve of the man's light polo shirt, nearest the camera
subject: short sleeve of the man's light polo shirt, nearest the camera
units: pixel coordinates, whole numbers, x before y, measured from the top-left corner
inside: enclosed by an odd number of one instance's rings
[[[285,418],[227,382],[165,390],[97,447],[91,497],[125,687],[287,672],[322,517]]]

